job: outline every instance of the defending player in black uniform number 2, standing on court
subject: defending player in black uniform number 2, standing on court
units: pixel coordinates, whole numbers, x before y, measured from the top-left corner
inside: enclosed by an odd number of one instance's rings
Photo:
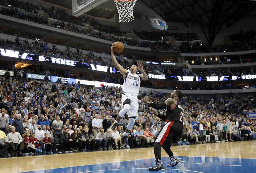
[[[159,112],[153,110],[154,115],[158,116],[161,120],[165,121],[166,124],[162,127],[158,133],[156,140],[154,142],[154,153],[156,165],[154,167],[148,168],[150,171],[163,171],[165,168],[161,160],[161,146],[169,155],[171,160],[167,166],[175,166],[180,161],[176,159],[171,151],[171,142],[175,141],[182,135],[183,132],[183,113],[184,109],[182,108],[179,100],[182,98],[182,92],[179,90],[174,90],[171,93],[171,98],[167,99],[163,103],[155,104],[148,101],[148,98],[145,97],[142,101],[152,108],[155,109],[164,109],[167,108],[166,116],[160,114]]]

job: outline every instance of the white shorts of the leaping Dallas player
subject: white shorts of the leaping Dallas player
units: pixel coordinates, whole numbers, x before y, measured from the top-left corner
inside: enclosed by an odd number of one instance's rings
[[[132,94],[129,94],[129,93],[122,94],[122,104],[126,99],[131,100],[131,104],[130,104],[131,108],[127,111],[128,117],[138,116],[139,103],[138,103],[137,96],[133,96]]]

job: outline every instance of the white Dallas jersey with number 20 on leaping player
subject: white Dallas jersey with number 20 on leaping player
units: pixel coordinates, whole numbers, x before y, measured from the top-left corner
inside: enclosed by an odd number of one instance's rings
[[[138,74],[132,74],[130,71],[126,73],[123,84],[123,93],[133,94],[138,96],[140,86],[140,76]]]

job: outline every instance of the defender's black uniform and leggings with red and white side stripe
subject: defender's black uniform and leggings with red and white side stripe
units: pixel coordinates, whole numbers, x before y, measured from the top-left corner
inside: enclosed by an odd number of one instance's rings
[[[174,108],[171,108],[170,106],[167,107],[166,116],[158,114],[158,117],[165,121],[166,124],[158,133],[154,143],[154,152],[156,158],[161,158],[161,146],[167,152],[169,157],[173,156],[170,149],[171,142],[175,142],[182,135],[183,114],[184,109],[178,100],[176,100]]]

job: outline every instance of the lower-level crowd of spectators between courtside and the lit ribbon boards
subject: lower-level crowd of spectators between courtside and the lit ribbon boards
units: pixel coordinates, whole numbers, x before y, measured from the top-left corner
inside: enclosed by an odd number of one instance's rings
[[[142,103],[147,93],[140,93],[139,117],[122,145],[120,132],[129,123],[128,116],[109,131],[122,109],[122,88],[1,78],[0,90],[1,156],[150,147],[165,124]],[[169,97],[163,92],[149,93],[152,102]],[[183,97],[180,102],[185,110],[184,133],[174,144],[256,139],[256,122],[246,117],[256,111],[254,96]]]

